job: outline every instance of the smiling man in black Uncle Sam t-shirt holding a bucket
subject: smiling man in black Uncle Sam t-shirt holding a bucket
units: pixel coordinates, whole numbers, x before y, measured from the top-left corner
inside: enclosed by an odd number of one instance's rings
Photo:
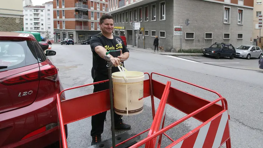
[[[123,63],[123,61],[128,59],[129,57],[129,50],[124,45],[123,40],[121,40],[119,36],[112,34],[112,31],[114,29],[113,17],[108,14],[102,15],[99,24],[101,32],[94,35],[90,40],[90,47],[93,53],[93,82],[99,82],[109,79],[107,61],[104,59],[104,55],[106,55],[107,51],[116,50],[115,52],[110,52],[109,54],[111,56],[111,62],[114,65],[112,67],[112,73],[119,71],[117,67],[119,63]],[[93,93],[106,89],[109,89],[109,82],[96,84],[94,85]],[[121,115],[114,113],[115,130],[130,130],[131,126],[128,124],[124,124],[121,117]],[[101,134],[103,133],[105,118],[106,112],[96,114],[91,117],[91,145],[95,145],[101,142]]]

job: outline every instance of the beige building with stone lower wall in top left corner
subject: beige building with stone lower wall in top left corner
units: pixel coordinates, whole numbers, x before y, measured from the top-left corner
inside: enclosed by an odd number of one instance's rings
[[[13,0],[11,3],[1,1],[0,31],[23,31],[23,1]]]

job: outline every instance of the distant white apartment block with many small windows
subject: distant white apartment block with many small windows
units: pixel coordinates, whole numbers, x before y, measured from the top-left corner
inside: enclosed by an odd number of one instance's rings
[[[45,36],[45,6],[25,6],[24,7],[24,30],[39,32]],[[50,18],[49,18],[50,19]]]

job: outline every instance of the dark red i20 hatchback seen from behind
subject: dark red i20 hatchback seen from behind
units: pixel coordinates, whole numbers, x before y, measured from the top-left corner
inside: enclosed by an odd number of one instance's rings
[[[59,141],[58,69],[32,34],[0,32],[0,147],[45,147]],[[64,94],[62,96],[64,99]],[[65,126],[67,132],[67,126]]]

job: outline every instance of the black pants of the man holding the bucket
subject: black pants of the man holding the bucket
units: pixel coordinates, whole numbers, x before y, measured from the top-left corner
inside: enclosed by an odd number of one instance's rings
[[[92,73],[93,73],[93,70],[94,69],[92,69]],[[99,81],[109,79],[108,75],[102,75],[102,74],[98,74],[96,72],[94,72],[93,74],[94,74],[94,81],[93,82],[99,82]],[[99,84],[94,85],[93,93],[103,91],[103,90],[107,90],[107,89],[109,89],[109,82],[99,83]],[[103,133],[106,113],[107,112],[102,112],[100,114],[96,114],[96,115],[91,117],[91,126],[92,126],[91,132],[90,132],[91,136],[100,135]],[[122,117],[121,115],[118,115],[114,112],[115,124],[120,123],[122,121],[121,117]]]

